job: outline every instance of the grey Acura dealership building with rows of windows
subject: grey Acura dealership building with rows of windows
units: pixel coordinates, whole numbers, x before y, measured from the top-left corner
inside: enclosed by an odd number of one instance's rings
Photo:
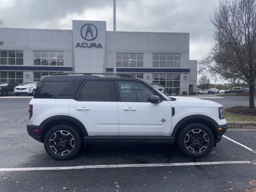
[[[189,33],[116,32],[116,71],[160,83],[167,94],[196,91]],[[72,30],[0,28],[0,81],[39,81],[55,72],[111,73],[106,21],[73,20]]]

